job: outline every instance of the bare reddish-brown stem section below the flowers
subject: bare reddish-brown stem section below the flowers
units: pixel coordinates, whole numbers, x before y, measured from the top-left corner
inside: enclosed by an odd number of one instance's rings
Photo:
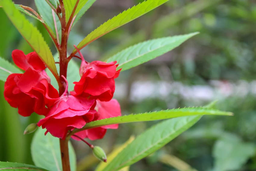
[[[68,156],[68,140],[60,139],[60,146],[61,146],[62,170],[70,171],[69,156]]]

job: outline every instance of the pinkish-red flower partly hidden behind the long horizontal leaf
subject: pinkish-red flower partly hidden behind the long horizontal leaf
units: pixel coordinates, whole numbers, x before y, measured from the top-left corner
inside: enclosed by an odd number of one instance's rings
[[[107,102],[96,100],[95,110],[97,110],[97,113],[95,113],[93,121],[106,119],[110,117],[121,116],[120,105],[116,99],[111,99],[110,101],[107,101]],[[92,128],[92,129],[80,131],[75,135],[83,139],[89,138],[90,140],[97,140],[104,137],[108,128],[117,129],[118,124],[106,125],[98,128]],[[72,138],[75,140],[80,140],[79,138],[74,136],[72,136]]]

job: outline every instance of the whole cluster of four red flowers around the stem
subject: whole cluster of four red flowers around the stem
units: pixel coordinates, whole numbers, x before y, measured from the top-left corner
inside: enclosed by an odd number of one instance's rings
[[[86,123],[121,115],[120,105],[112,99],[115,91],[114,79],[120,70],[116,70],[116,61],[105,63],[82,60],[79,70],[81,79],[75,84],[74,91],[59,95],[51,85],[45,73],[45,64],[35,52],[25,55],[20,50],[12,52],[14,63],[23,74],[13,73],[5,82],[4,97],[8,103],[18,108],[22,116],[35,112],[44,115],[37,125],[46,128],[45,134],[65,139],[68,131],[82,128]],[[116,129],[118,125],[92,128],[76,133],[81,138],[101,139],[106,129]],[[73,139],[80,140],[76,137]]]

